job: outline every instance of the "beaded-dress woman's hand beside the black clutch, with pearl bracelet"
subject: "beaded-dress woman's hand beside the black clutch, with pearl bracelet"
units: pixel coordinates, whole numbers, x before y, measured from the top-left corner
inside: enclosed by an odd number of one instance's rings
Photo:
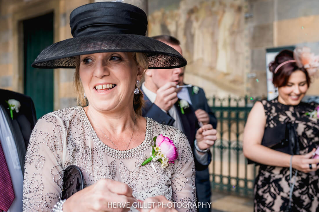
[[[132,196],[132,189],[125,183],[112,179],[99,179],[92,186],[70,196],[63,204],[63,212],[124,212],[129,211],[134,202],[137,200]]]

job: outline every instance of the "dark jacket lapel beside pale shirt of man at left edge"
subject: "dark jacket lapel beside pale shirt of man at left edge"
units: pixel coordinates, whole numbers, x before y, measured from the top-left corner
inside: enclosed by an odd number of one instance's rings
[[[18,152],[21,171],[22,171],[22,174],[24,174],[24,157],[26,155],[26,146],[24,143],[24,138],[23,138],[19,123],[17,120],[11,119],[11,117],[8,113],[8,109],[7,109],[8,104],[5,101],[1,101],[0,107],[4,112],[4,116],[7,120],[9,128],[11,130],[11,134],[13,136],[13,141],[16,145],[17,152]]]

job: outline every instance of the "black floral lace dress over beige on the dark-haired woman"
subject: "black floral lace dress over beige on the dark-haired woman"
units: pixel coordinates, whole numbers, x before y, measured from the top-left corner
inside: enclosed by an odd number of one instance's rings
[[[301,155],[319,146],[319,120],[305,113],[312,112],[318,106],[315,102],[297,106],[283,105],[278,99],[261,101],[266,114],[263,143],[285,139],[287,122],[294,124]],[[295,174],[293,169],[292,176]],[[289,204],[289,168],[260,165],[254,185],[254,210],[286,211]],[[304,173],[298,171],[293,189],[290,211],[319,211],[319,171]]]

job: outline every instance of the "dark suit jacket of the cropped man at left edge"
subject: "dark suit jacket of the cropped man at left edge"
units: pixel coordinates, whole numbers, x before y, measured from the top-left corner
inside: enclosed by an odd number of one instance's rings
[[[21,104],[19,113],[13,112],[13,120],[10,116],[9,106],[5,102],[8,99],[15,99]],[[37,121],[33,101],[30,97],[21,93],[0,89],[0,107],[4,111],[9,128],[11,129],[18,151],[21,170],[24,173],[26,148],[28,147],[32,129]]]

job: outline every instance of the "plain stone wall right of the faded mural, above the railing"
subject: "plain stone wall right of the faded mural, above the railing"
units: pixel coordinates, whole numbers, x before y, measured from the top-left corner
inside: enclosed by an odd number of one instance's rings
[[[266,48],[308,46],[319,54],[319,1],[249,0],[246,24],[250,36],[251,69],[256,77],[247,80],[250,96],[267,96]],[[258,79],[258,82],[256,81]],[[319,80],[314,79],[307,95],[319,95]]]

